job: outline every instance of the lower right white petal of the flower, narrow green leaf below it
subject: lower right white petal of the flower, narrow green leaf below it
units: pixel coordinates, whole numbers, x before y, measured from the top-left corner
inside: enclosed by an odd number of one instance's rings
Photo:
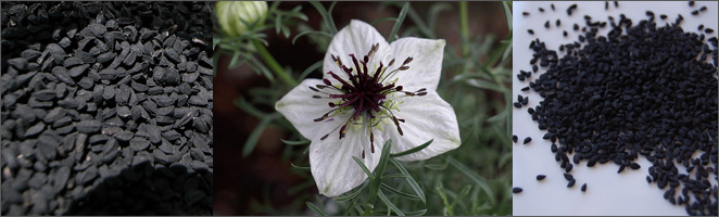
[[[399,94],[398,94],[399,95]],[[400,111],[392,111],[400,123],[404,136],[400,136],[393,123],[384,125],[384,138],[392,139],[392,153],[399,153],[434,139],[420,152],[398,157],[400,161],[419,161],[454,150],[462,143],[459,126],[450,103],[434,91],[421,97],[400,97],[404,101],[398,105]]]

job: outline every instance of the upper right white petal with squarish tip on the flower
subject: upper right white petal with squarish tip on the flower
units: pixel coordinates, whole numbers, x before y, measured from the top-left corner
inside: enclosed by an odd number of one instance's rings
[[[400,78],[401,85],[407,91],[420,88],[437,90],[442,74],[442,58],[444,56],[444,39],[401,38],[390,44],[398,67],[408,58],[413,61],[407,64],[409,69],[400,71],[388,80]],[[394,69],[394,67],[389,68]],[[388,71],[389,71],[388,69]]]

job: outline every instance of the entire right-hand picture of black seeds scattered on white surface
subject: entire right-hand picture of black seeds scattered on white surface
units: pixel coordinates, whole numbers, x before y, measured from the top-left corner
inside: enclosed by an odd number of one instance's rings
[[[554,4],[567,13],[514,23],[535,30],[514,38],[515,68],[535,75],[515,71],[514,94],[533,101],[514,107],[513,131],[542,140],[514,149],[513,179],[556,193],[514,196],[514,215],[717,216],[717,2]],[[537,27],[546,20],[572,25]],[[539,186],[537,173],[565,179]]]

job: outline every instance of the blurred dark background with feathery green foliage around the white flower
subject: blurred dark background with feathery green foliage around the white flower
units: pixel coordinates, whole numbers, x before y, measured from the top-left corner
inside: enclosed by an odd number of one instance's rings
[[[280,68],[273,68],[249,40],[240,40],[244,48],[239,54],[215,52],[215,215],[316,215],[306,202],[328,215],[346,209],[345,202],[319,196],[310,170],[300,168],[310,165],[308,142],[274,111],[292,87],[273,71],[297,81],[321,77],[331,37],[295,38],[328,31],[317,5],[331,9],[337,29],[362,20],[388,37],[402,20],[398,36],[447,42],[438,92],[454,106],[463,144],[428,161],[402,162],[426,204],[399,194],[388,199],[408,214],[512,215],[510,2],[411,2],[406,8],[405,2],[275,3],[268,2],[267,28],[253,37],[266,41]],[[389,164],[387,171],[396,174],[398,168]],[[404,181],[387,183],[413,192]]]

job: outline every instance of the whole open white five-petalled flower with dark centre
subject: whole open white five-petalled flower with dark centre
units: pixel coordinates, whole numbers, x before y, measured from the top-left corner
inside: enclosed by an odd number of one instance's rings
[[[310,139],[310,166],[319,192],[338,196],[374,170],[384,141],[398,157],[419,161],[459,146],[452,105],[437,94],[444,40],[402,38],[392,44],[369,24],[352,21],[329,44],[324,79],[305,79],[275,108]],[[396,60],[396,61],[395,61]]]

